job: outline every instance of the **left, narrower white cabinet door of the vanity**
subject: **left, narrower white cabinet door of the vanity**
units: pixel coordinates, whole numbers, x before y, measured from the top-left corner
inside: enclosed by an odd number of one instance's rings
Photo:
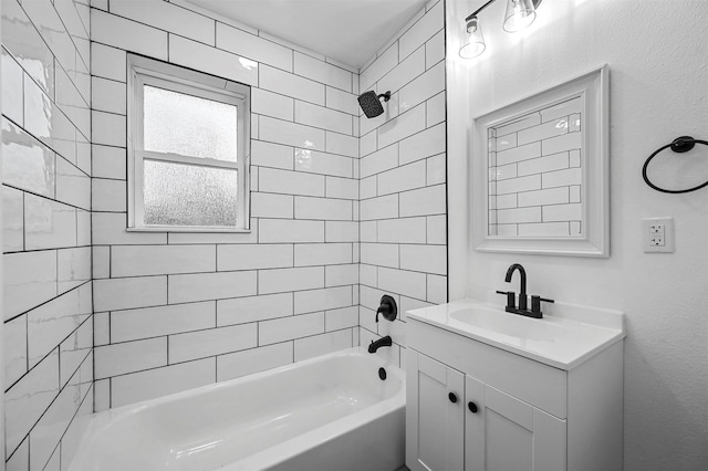
[[[460,471],[465,375],[409,350],[406,395],[406,465],[412,471]]]

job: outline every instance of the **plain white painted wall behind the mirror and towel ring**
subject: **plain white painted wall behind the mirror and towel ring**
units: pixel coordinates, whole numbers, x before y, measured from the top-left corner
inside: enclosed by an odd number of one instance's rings
[[[519,262],[531,293],[625,312],[625,469],[706,469],[708,189],[659,193],[641,171],[652,151],[678,136],[708,139],[708,2],[544,0],[535,23],[518,34],[501,29],[503,3],[480,14],[487,51],[466,64],[457,56],[462,20],[479,6],[447,2],[448,112],[450,123],[466,124],[449,130],[449,198],[467,200],[467,159],[478,157],[467,151],[473,116],[607,63],[611,257],[476,252],[468,208],[451,206],[450,299],[496,299],[507,266]],[[708,178],[706,157],[706,147],[668,153],[652,175],[670,188],[695,186]],[[660,216],[675,219],[676,252],[644,253],[641,219]]]

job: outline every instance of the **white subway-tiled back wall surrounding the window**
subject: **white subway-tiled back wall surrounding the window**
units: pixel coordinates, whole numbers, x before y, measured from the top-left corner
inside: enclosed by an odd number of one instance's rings
[[[356,71],[178,0],[91,20],[95,409],[357,345]],[[251,85],[250,233],[126,232],[126,51]]]

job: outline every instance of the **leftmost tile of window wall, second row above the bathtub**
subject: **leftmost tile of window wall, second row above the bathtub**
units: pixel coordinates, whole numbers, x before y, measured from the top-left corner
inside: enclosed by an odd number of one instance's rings
[[[96,379],[165,366],[167,337],[95,347],[94,362]]]

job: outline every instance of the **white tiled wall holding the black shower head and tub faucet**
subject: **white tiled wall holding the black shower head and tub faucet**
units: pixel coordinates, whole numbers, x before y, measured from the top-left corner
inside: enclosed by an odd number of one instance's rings
[[[405,362],[405,311],[447,302],[445,14],[430,1],[362,69],[362,92],[392,92],[386,113],[360,118],[361,343]],[[399,317],[374,322],[383,294]]]

